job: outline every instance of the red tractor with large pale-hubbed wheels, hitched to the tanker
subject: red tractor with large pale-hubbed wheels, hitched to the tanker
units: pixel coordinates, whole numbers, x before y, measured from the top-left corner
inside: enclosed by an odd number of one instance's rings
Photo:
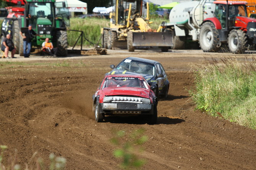
[[[217,0],[213,3],[215,17],[204,19],[200,28],[199,43],[203,51],[218,51],[222,43],[227,43],[232,53],[244,53],[253,47],[256,19],[248,17],[247,2]]]

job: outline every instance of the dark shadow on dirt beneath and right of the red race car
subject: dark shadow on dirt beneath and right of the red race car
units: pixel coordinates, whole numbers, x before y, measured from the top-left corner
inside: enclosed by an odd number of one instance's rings
[[[110,123],[126,123],[126,124],[148,124],[148,120],[146,116],[106,116],[104,122]],[[169,117],[157,117],[156,125],[166,124],[166,125],[173,125],[177,123],[185,122],[183,119],[175,118],[171,119]]]

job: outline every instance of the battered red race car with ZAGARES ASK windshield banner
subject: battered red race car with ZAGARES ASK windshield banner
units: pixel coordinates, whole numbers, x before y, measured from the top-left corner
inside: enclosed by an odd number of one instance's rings
[[[141,75],[106,75],[93,98],[97,122],[105,115],[147,115],[149,123],[157,122],[157,98]]]

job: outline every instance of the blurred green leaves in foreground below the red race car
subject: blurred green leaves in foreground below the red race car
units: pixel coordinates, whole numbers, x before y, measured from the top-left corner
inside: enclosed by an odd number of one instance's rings
[[[115,132],[111,142],[119,148],[113,151],[113,155],[122,159],[120,165],[123,169],[134,169],[142,167],[146,161],[139,159],[135,151],[143,151],[142,145],[147,141],[147,136],[143,135],[144,129],[138,129],[131,132],[130,135],[123,130]]]

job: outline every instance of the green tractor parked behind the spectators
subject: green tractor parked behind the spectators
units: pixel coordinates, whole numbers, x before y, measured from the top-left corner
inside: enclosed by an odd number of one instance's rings
[[[19,32],[32,29],[42,37],[35,36],[31,46],[42,47],[45,38],[49,38],[54,47],[58,47],[58,56],[67,56],[68,37],[66,27],[70,26],[70,17],[66,1],[55,2],[55,0],[24,0],[24,16],[13,18],[13,42],[17,53],[23,54],[23,37]]]

